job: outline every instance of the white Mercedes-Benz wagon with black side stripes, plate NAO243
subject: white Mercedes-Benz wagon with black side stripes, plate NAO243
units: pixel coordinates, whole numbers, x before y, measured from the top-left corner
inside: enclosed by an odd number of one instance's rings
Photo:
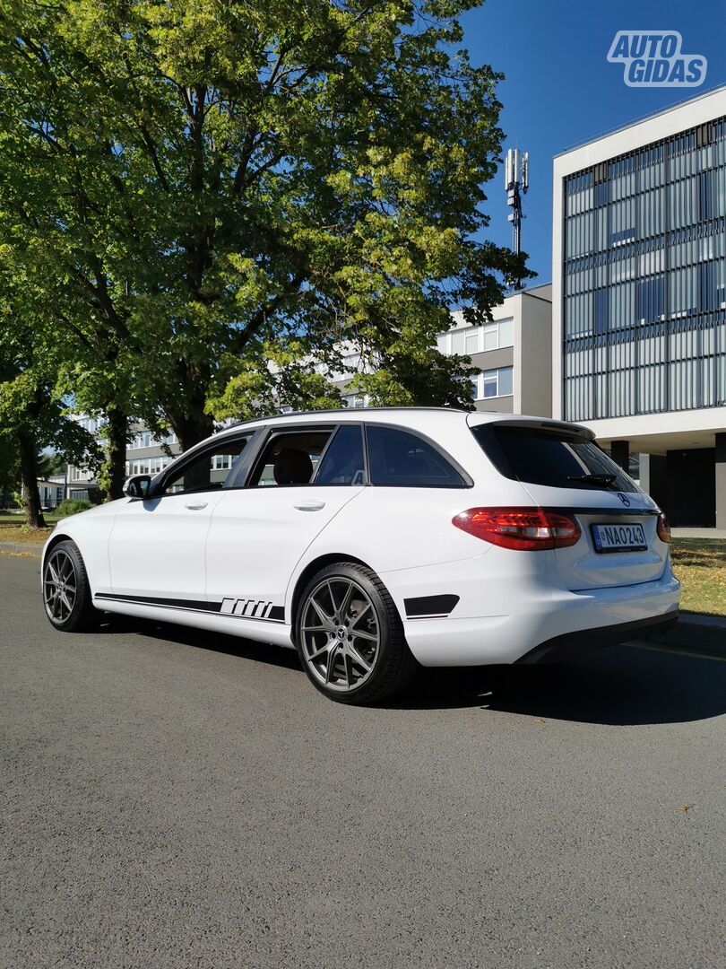
[[[43,553],[56,629],[101,611],[294,646],[348,703],[417,665],[584,655],[678,615],[670,533],[590,430],[436,408],[238,424]]]

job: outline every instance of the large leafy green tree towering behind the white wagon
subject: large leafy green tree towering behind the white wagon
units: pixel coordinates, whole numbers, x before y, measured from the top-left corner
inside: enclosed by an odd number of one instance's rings
[[[188,448],[295,381],[319,406],[336,391],[302,361],[342,342],[379,402],[469,404],[436,334],[527,275],[481,241],[502,135],[499,75],[461,48],[472,6],[4,8],[0,232],[117,440],[134,413]]]

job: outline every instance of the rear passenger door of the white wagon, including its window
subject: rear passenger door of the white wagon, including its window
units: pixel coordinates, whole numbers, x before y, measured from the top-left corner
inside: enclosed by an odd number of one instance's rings
[[[285,621],[287,582],[305,549],[363,490],[359,423],[272,429],[244,483],[216,505],[207,595],[240,618]]]

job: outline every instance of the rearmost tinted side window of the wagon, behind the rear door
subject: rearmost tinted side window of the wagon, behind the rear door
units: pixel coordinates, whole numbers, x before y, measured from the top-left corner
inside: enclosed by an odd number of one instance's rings
[[[466,487],[459,472],[428,441],[402,430],[368,424],[372,485]]]

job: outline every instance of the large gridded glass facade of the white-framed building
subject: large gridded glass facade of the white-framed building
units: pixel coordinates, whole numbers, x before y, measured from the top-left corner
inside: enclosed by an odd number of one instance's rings
[[[726,401],[726,118],[707,127],[563,180],[567,420]]]

